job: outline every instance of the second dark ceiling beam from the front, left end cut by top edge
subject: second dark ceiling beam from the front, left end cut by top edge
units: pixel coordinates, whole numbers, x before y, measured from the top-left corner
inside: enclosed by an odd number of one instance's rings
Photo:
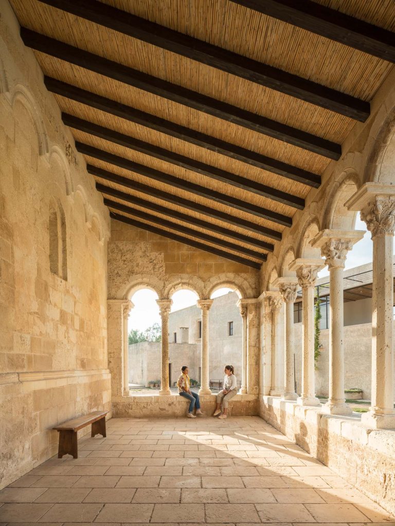
[[[178,33],[173,29],[102,2],[95,0],[84,0],[84,2],[81,0],[41,0],[41,2],[347,117],[362,120],[362,122],[369,117],[369,104],[363,100],[238,55],[228,49]]]

